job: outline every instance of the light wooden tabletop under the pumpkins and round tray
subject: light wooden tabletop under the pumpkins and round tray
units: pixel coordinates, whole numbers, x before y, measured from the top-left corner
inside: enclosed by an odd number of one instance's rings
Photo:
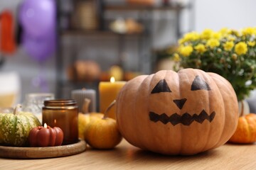
[[[50,159],[4,159],[0,169],[256,169],[256,145],[226,144],[194,156],[164,156],[129,145],[126,140],[112,150],[95,150]]]

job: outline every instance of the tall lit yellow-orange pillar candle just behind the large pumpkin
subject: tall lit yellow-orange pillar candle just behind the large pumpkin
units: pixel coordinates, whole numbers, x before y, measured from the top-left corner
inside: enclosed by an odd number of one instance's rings
[[[117,94],[122,89],[126,81],[114,81],[114,77],[111,77],[109,81],[102,81],[99,85],[100,93],[100,112],[104,113],[110,103],[117,98]],[[108,112],[110,118],[115,119],[115,107],[112,107]]]

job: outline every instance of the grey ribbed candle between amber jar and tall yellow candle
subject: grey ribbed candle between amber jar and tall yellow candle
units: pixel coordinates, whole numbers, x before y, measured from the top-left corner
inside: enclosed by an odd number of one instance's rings
[[[78,103],[79,112],[82,112],[82,106],[85,98],[90,99],[89,112],[96,112],[96,91],[94,89],[77,89],[71,91],[71,98]]]

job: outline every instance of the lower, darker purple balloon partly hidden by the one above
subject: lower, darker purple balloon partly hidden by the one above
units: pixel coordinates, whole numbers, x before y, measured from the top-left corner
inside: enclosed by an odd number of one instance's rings
[[[55,33],[52,32],[43,38],[34,38],[23,33],[23,47],[28,55],[38,62],[44,62],[53,55],[56,48]]]

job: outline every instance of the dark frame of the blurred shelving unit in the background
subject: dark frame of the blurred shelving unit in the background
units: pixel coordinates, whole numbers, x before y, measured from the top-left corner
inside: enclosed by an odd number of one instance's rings
[[[92,89],[97,89],[97,84],[98,81],[92,82],[92,83],[87,83],[87,82],[77,82],[77,81],[68,81],[63,77],[63,72],[65,72],[65,67],[63,66],[63,47],[61,45],[61,42],[65,36],[73,36],[73,37],[82,37],[82,38],[87,38],[87,36],[96,36],[96,37],[101,37],[101,36],[110,36],[110,37],[116,37],[118,40],[118,55],[121,56],[122,52],[124,52],[124,43],[126,42],[127,38],[133,37],[137,41],[139,41],[140,47],[138,47],[138,55],[141,57],[141,63],[139,63],[139,67],[143,68],[143,64],[145,62],[149,62],[148,68],[146,68],[146,72],[142,70],[144,74],[149,74],[149,72],[152,71],[152,64],[155,62],[155,58],[152,55],[151,52],[151,26],[152,26],[152,11],[175,11],[176,13],[176,39],[181,35],[181,29],[180,29],[180,20],[181,20],[181,11],[185,8],[191,8],[191,6],[117,6],[117,5],[107,5],[103,4],[102,0],[98,0],[99,4],[99,9],[100,9],[100,26],[98,30],[78,30],[78,29],[68,29],[68,30],[58,30],[58,40],[59,40],[59,46],[58,46],[58,55],[57,55],[57,64],[56,64],[56,72],[57,72],[57,84],[56,84],[56,96],[58,98],[62,97],[68,97],[68,96],[63,96],[63,91],[65,89],[70,88],[70,89],[79,89],[82,87],[89,87]],[[61,3],[61,0],[58,0],[58,3]],[[139,33],[139,34],[131,34],[131,35],[126,35],[126,34],[117,34],[113,33],[112,31],[107,29],[107,23],[106,23],[106,18],[105,18],[105,12],[106,11],[115,11],[115,12],[128,12],[128,11],[137,11],[141,13],[142,16],[148,16],[148,18],[141,18],[142,23],[144,26],[147,28],[144,33]],[[61,13],[58,13],[58,17],[60,17]],[[95,47],[95,50],[99,50],[97,47]],[[70,57],[71,58],[71,57]],[[75,61],[76,58],[73,56],[70,59],[70,62]],[[121,59],[120,59],[121,61]]]

